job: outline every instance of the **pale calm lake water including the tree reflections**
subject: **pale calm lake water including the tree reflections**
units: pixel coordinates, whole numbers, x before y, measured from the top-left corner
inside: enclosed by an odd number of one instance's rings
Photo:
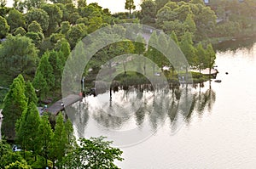
[[[174,94],[169,90],[119,90],[113,93],[112,102],[109,93],[104,93],[75,105],[82,110],[72,117],[76,134],[108,136],[124,151],[125,161],[117,164],[126,169],[253,168],[256,43],[238,48],[229,44],[232,48],[217,52],[217,79],[222,82],[212,81],[211,89],[209,82],[203,87],[188,87],[193,107],[189,114],[175,113],[177,106],[170,107],[178,103],[182,95],[178,93],[186,91],[185,86],[176,88]],[[111,109],[113,114],[106,114]]]

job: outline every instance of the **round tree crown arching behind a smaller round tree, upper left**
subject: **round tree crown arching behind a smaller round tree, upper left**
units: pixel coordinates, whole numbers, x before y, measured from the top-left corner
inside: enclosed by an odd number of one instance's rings
[[[32,8],[26,13],[26,24],[29,25],[32,21],[37,21],[43,31],[47,31],[49,27],[49,15],[41,8]]]

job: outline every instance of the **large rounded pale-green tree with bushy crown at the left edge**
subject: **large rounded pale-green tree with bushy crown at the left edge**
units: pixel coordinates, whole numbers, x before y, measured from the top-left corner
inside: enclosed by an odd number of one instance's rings
[[[38,63],[38,51],[30,38],[9,35],[2,45],[0,65],[7,74],[10,76],[22,74],[26,78],[34,75]]]

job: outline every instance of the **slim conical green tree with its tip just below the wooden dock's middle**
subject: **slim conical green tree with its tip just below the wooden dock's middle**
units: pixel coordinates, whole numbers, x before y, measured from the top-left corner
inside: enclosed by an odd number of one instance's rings
[[[55,131],[53,133],[51,147],[49,149],[49,159],[54,162],[61,162],[61,159],[65,156],[67,149],[68,139],[67,131],[64,126],[63,115],[59,113],[57,115]]]

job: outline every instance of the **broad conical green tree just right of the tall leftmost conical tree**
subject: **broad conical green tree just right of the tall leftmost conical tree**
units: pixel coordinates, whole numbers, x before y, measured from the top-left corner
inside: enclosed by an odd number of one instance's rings
[[[40,149],[38,144],[38,127],[40,125],[40,117],[36,104],[31,102],[27,109],[22,112],[21,118],[16,123],[16,139],[22,146],[22,149],[32,150],[35,156]],[[24,154],[25,155],[25,154]]]

